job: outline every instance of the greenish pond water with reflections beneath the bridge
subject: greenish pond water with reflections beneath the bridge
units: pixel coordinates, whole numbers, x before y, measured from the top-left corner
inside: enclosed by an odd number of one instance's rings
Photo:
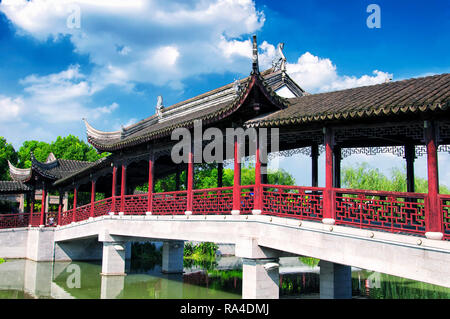
[[[0,264],[0,298],[239,299],[242,262],[222,257],[214,262],[187,261],[183,274],[161,273],[158,262],[128,262],[127,276],[101,276],[100,262]],[[353,269],[354,298],[450,298],[450,289],[366,270]],[[280,259],[280,298],[319,298],[319,267],[297,257]]]

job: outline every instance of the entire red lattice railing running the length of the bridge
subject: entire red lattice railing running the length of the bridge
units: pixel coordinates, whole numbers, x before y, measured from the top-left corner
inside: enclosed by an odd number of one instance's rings
[[[240,186],[240,214],[252,213],[254,191],[254,185]],[[426,231],[427,194],[340,188],[332,191],[337,225],[418,235]],[[324,218],[324,192],[321,187],[262,185],[262,214],[320,221]],[[450,240],[450,195],[439,195],[439,199],[444,239]],[[187,210],[187,191],[153,193],[151,200],[155,215],[182,215]],[[96,201],[93,206],[87,204],[60,214],[46,213],[44,221],[45,226],[67,225],[109,212],[143,215],[148,209],[148,194],[126,195],[123,203],[116,196]],[[232,209],[233,187],[193,191],[193,214],[230,214]],[[0,228],[39,226],[40,218],[40,212],[0,215]]]

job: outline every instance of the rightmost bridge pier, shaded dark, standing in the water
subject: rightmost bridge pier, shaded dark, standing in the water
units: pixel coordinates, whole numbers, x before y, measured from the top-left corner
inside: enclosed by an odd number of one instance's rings
[[[319,266],[320,299],[351,299],[351,267],[325,260],[321,260]]]

